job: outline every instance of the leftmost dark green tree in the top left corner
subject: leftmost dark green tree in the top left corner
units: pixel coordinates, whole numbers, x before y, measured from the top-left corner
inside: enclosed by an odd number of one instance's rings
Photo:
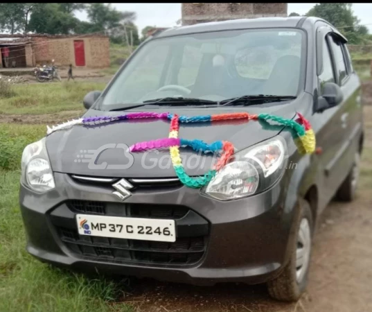
[[[36,3],[0,3],[0,31],[26,32]]]

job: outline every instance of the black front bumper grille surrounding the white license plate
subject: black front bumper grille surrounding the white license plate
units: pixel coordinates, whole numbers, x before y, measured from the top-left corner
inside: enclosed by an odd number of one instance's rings
[[[81,213],[175,220],[177,240],[168,243],[80,235],[75,218],[76,214]],[[177,223],[179,221],[181,222]],[[61,205],[51,212],[51,222],[62,242],[71,252],[80,257],[111,263],[167,266],[172,264],[187,266],[200,261],[206,250],[206,236],[209,227],[204,218],[184,206],[86,200],[68,200],[65,205]],[[193,224],[199,227],[203,226],[202,223],[204,223],[205,230],[197,232],[198,229],[193,227]]]

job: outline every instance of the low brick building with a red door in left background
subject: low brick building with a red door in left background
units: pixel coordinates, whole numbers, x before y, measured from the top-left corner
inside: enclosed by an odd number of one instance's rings
[[[105,35],[1,35],[0,49],[8,47],[9,66],[55,64],[73,67],[109,67],[109,37]],[[0,67],[4,67],[3,60]]]

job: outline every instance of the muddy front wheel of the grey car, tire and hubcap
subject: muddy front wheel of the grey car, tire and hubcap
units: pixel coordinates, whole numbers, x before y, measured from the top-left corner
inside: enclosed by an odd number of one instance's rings
[[[296,237],[294,243],[292,243],[290,261],[283,268],[278,277],[267,282],[267,291],[269,292],[269,295],[280,301],[291,302],[299,300],[299,297],[301,297],[308,285],[308,271],[311,258],[313,233],[312,212],[309,202],[302,199],[300,201],[299,209],[299,217],[296,220],[295,227]],[[305,239],[301,238],[299,235],[300,231],[305,231],[307,233],[303,232],[301,235],[303,238],[306,237]],[[302,258],[303,266],[299,266],[299,270],[296,269],[297,250],[303,250],[304,252],[304,257]],[[299,275],[299,278],[297,278],[297,275]]]

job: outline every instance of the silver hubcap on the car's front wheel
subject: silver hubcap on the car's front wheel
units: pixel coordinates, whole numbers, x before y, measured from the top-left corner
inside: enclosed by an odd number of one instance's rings
[[[311,250],[311,233],[309,221],[306,218],[301,220],[299,234],[297,235],[296,248],[296,279],[301,283],[309,266]]]

